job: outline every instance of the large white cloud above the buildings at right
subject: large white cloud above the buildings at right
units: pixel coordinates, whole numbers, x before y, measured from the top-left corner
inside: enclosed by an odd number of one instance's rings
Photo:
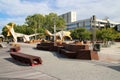
[[[64,12],[77,11],[78,19],[89,18],[92,15],[99,18],[105,16],[118,18],[120,17],[119,3],[120,0],[57,0],[57,5],[61,11],[63,9]]]

